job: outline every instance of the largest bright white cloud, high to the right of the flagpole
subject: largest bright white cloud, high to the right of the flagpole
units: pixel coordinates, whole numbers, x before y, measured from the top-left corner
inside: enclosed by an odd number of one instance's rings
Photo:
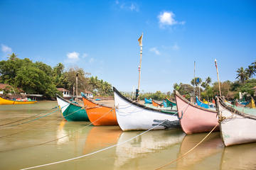
[[[178,22],[174,19],[174,17],[175,17],[175,14],[172,11],[161,12],[158,16],[160,28],[164,28],[165,26],[174,26],[176,24],[181,24],[181,25],[185,24],[185,21]]]

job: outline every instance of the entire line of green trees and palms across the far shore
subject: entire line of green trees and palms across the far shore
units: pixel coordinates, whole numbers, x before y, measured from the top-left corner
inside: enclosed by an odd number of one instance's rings
[[[253,87],[256,86],[256,79],[252,77],[256,74],[256,61],[252,62],[246,69],[240,67],[237,69],[238,81],[220,82],[222,96],[228,100],[239,98],[239,92],[245,99],[254,96]],[[46,98],[54,98],[58,94],[57,88],[64,88],[74,92],[75,77],[78,74],[78,93],[80,91],[91,91],[96,96],[112,96],[112,85],[107,81],[91,77],[89,72],[85,72],[82,68],[73,67],[65,69],[62,63],[58,63],[55,67],[50,67],[43,62],[32,62],[28,58],[19,59],[16,54],[9,55],[8,60],[0,62],[0,83],[9,84],[13,89],[6,92],[18,93],[21,90],[27,94],[43,94]],[[210,77],[206,77],[203,81],[200,77],[191,80],[191,84],[175,83],[174,89],[181,95],[190,99],[195,95],[201,99],[211,100],[214,96],[219,95],[218,82],[212,83]],[[1,89],[0,89],[1,90]],[[132,93],[123,93],[124,96],[132,98]],[[154,100],[163,100],[164,98],[173,98],[171,91],[161,93],[142,93],[140,98],[153,98]]]

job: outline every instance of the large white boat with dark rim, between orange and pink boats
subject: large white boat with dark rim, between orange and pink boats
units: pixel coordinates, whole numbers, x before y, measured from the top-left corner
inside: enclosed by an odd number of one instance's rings
[[[178,128],[176,111],[164,113],[161,110],[148,108],[128,98],[114,89],[114,106],[116,107],[117,122],[123,131],[126,130],[154,130]]]

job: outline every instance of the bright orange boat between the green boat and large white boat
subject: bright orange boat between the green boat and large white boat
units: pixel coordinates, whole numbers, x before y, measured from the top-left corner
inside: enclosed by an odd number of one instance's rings
[[[114,108],[95,103],[87,98],[85,94],[81,93],[81,95],[86,113],[93,125],[118,125]]]

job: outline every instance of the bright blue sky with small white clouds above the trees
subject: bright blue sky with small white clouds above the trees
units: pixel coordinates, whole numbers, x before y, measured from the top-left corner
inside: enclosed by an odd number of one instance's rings
[[[172,91],[196,76],[235,81],[256,60],[256,1],[0,1],[1,60],[82,67],[120,91]]]

